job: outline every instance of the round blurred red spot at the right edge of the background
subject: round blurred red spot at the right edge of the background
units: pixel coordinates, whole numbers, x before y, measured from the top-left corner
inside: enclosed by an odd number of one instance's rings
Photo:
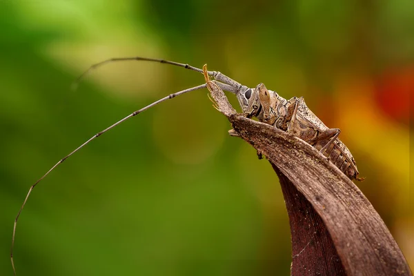
[[[385,72],[377,80],[375,97],[380,108],[393,119],[408,124],[414,108],[414,67]],[[411,99],[412,100],[412,99]]]

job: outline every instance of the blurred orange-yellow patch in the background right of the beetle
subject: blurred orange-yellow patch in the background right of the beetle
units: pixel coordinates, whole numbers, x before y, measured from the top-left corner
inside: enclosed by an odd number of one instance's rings
[[[369,79],[343,77],[337,83],[338,124],[355,150],[370,159],[371,174],[384,183],[393,183],[400,211],[410,208],[409,148],[410,132],[383,114],[373,101]],[[404,99],[402,99],[404,101]],[[342,103],[350,103],[344,106]],[[355,133],[357,135],[352,135]],[[362,172],[363,173],[363,172]],[[373,183],[375,185],[375,183]]]

